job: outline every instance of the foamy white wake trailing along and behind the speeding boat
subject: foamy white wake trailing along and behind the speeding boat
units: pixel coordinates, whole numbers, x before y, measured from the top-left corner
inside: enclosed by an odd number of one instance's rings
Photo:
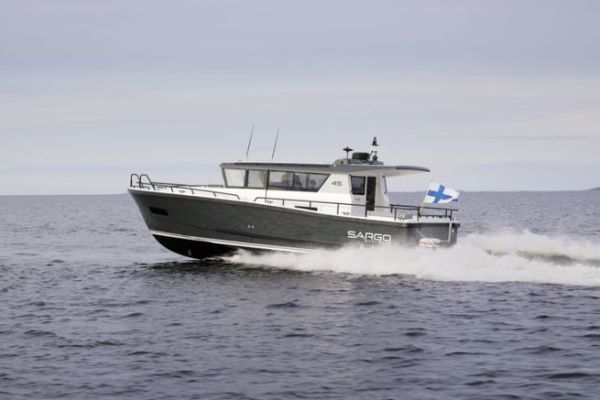
[[[600,286],[600,244],[525,232],[471,234],[452,248],[346,247],[307,254],[239,252],[232,263],[299,271],[411,275],[465,282]]]

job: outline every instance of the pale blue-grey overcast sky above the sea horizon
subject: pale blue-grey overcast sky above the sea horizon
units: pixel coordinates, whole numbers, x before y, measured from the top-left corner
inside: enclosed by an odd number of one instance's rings
[[[466,191],[600,186],[596,0],[0,0],[0,195],[342,148]]]

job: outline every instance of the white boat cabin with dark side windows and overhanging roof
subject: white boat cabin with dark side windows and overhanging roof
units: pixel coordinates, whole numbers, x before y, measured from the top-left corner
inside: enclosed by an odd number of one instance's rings
[[[224,189],[241,200],[363,217],[389,217],[388,177],[429,172],[386,166],[359,152],[333,164],[237,162],[221,164],[221,169]]]

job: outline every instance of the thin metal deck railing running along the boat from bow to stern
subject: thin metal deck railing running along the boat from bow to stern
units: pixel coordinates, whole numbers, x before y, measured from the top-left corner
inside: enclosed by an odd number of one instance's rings
[[[188,185],[188,184],[180,184],[180,183],[166,183],[166,182],[154,182],[150,179],[147,174],[131,174],[129,177],[129,187],[131,188],[139,188],[139,189],[152,189],[157,191],[168,190],[171,193],[185,193],[189,191],[192,195],[196,193],[207,193],[212,194],[214,198],[218,198],[219,196],[229,197],[232,199],[240,200],[240,197],[234,193],[227,193],[218,190],[214,190],[212,188],[223,188],[222,185]],[[321,200],[305,200],[305,199],[285,199],[280,197],[256,197],[254,199],[254,203],[264,202],[266,204],[273,204],[281,202],[281,206],[285,207],[286,203],[288,205],[293,204],[295,208],[310,210],[310,211],[318,211],[318,208],[315,206],[325,206],[329,209],[333,210],[335,208],[336,215],[350,215],[350,213],[344,213],[345,210],[352,210],[353,208],[362,208],[364,209],[364,216],[394,216],[394,221],[406,219],[406,216],[401,214],[400,217],[398,213],[402,213],[403,211],[410,212],[411,215],[417,217],[417,220],[421,218],[443,218],[443,219],[454,219],[454,212],[458,211],[456,208],[447,208],[447,207],[432,207],[432,206],[414,206],[414,205],[406,205],[406,204],[390,204],[389,206],[373,206],[366,204],[352,204],[352,203],[339,203],[339,202],[331,202],[331,201],[321,201]],[[300,203],[300,205],[298,205]]]

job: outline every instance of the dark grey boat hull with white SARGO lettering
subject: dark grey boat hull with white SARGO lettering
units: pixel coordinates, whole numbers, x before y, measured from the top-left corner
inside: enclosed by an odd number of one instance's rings
[[[387,222],[263,204],[130,189],[146,225],[166,248],[193,258],[237,249],[310,251],[348,244],[456,242],[459,225]],[[451,234],[450,234],[451,230]]]

